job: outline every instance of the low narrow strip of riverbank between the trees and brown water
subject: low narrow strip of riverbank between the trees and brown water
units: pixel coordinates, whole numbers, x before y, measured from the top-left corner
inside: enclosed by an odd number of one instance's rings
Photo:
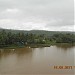
[[[50,47],[53,45],[58,45],[58,46],[75,46],[75,43],[52,43],[52,44],[28,44],[28,45],[4,45],[0,47],[1,49],[13,49],[13,48],[23,48],[23,47],[29,47],[29,48],[38,48],[38,47]]]

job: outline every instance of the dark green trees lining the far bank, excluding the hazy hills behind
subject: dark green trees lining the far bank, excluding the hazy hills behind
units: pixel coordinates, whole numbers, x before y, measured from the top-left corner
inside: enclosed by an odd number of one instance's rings
[[[48,34],[47,34],[48,35]],[[56,33],[46,36],[45,34],[33,34],[17,32],[12,33],[6,30],[0,31],[0,48],[2,47],[44,47],[50,46],[56,43],[69,43],[75,44],[75,34],[72,33]]]

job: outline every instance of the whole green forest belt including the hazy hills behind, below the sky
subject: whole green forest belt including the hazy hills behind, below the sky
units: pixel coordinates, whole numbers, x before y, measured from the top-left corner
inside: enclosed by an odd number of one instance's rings
[[[74,32],[0,30],[0,47],[75,43]]]

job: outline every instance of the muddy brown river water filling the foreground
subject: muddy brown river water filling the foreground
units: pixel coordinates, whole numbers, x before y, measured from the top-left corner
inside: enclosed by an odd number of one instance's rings
[[[0,75],[74,75],[75,46],[0,49]]]

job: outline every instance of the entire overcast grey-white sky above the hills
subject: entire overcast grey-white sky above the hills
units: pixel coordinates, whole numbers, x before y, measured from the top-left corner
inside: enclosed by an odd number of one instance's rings
[[[0,0],[0,28],[74,30],[74,0]]]

